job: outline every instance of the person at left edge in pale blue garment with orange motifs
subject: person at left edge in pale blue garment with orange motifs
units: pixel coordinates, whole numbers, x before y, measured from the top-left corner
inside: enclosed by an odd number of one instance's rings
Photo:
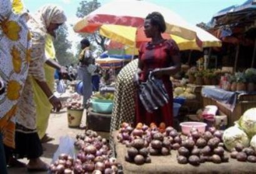
[[[29,70],[30,33],[27,14],[12,12],[10,0],[0,0],[0,173],[7,173],[3,152],[15,147],[15,114]]]

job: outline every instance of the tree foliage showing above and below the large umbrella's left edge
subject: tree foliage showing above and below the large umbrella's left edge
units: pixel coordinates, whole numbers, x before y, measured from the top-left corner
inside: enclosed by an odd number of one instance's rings
[[[77,8],[76,16],[84,17],[87,16],[92,11],[95,11],[97,8],[101,6],[101,3],[97,0],[92,1],[81,1],[80,6]],[[99,35],[99,31],[94,32],[94,34],[81,34],[81,37],[86,37],[90,40],[90,42],[95,42],[99,45],[99,48],[104,51],[106,48],[104,47],[105,37]]]

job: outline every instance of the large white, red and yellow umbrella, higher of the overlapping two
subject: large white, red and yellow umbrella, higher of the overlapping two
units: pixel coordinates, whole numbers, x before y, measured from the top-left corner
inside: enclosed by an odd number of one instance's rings
[[[165,7],[136,0],[111,1],[78,21],[74,25],[74,31],[92,33],[104,27],[104,25],[121,25],[129,26],[130,30],[135,33],[137,29],[144,25],[145,17],[153,11],[158,11],[164,16],[167,26],[165,32],[167,34],[177,35],[189,40],[197,38],[196,32],[192,29],[191,25],[174,12]],[[123,32],[119,37],[126,34],[128,33]],[[135,47],[132,44],[126,45]]]

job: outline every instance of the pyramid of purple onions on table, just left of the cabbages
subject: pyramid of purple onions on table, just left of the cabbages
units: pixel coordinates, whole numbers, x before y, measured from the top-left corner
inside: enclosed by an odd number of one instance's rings
[[[210,127],[204,134],[197,129],[191,129],[190,134],[183,137],[178,149],[178,163],[200,165],[204,162],[229,162],[229,157],[224,153],[222,134],[223,132],[216,130],[215,127]]]

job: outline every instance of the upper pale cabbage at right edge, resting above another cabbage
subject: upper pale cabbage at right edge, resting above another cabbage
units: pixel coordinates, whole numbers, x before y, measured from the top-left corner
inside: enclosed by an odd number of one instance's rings
[[[256,108],[244,112],[244,115],[240,117],[239,126],[249,137],[256,135]]]

